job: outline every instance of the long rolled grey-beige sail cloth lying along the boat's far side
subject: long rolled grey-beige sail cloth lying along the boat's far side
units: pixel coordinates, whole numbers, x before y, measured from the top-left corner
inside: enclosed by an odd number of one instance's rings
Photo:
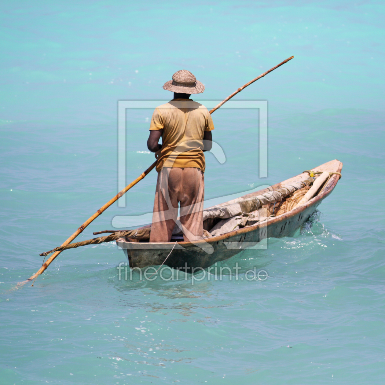
[[[315,178],[313,177],[309,177],[308,179],[305,179],[305,181],[293,183],[280,189],[266,192],[262,195],[243,199],[224,206],[214,206],[203,211],[203,220],[208,218],[226,219],[242,215],[243,213],[251,213],[251,211],[258,210],[265,204],[280,202],[283,198],[302,187],[311,186],[314,179]]]

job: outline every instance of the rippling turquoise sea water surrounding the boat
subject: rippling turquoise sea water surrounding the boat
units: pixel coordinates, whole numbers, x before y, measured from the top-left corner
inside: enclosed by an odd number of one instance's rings
[[[0,7],[1,384],[383,383],[383,3]],[[65,251],[12,290],[116,194],[118,100],[167,99],[182,68],[206,85],[196,100],[224,99],[291,55],[236,97],[268,100],[268,177],[255,112],[218,110],[226,162],[206,157],[206,199],[339,159],[318,222],[218,265],[238,263],[238,280],[119,281],[126,260],[109,243]],[[153,161],[148,117],[127,114],[127,182]],[[155,181],[78,239],[151,211]],[[254,267],[268,278],[246,280]]]

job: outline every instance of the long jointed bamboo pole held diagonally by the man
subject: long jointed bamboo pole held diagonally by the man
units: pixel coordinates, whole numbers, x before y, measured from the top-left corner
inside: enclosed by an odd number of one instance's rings
[[[275,70],[276,68],[280,67],[281,65],[287,63],[289,60],[293,59],[294,56],[291,56],[289,57],[288,59],[286,60],[283,60],[283,62],[281,62],[280,64],[276,65],[275,67],[269,69],[268,71],[264,72],[263,74],[259,75],[258,77],[256,77],[255,79],[253,80],[250,80],[248,83],[244,84],[242,87],[238,88],[238,90],[236,90],[235,92],[233,92],[231,95],[229,95],[226,99],[224,99],[222,102],[220,102],[218,105],[216,105],[212,110],[210,110],[210,114],[212,114],[215,110],[217,110],[219,107],[221,107],[221,105],[223,105],[224,103],[226,103],[229,99],[231,99],[234,95],[238,94],[238,92],[241,92],[243,89],[245,89],[248,85],[256,82],[258,79],[261,79],[261,77],[264,77],[265,75],[267,75],[269,72]],[[66,246],[67,244],[69,244],[72,240],[74,240],[95,218],[97,218],[105,209],[107,209],[109,206],[111,206],[112,203],[114,203],[115,201],[117,201],[123,194],[125,194],[129,189],[131,189],[131,187],[135,186],[139,181],[141,181],[155,166],[156,166],[156,163],[157,161],[155,161],[153,164],[151,164],[151,166],[146,170],[144,171],[139,177],[137,177],[134,181],[132,181],[128,186],[124,187],[124,189],[122,189],[122,191],[120,191],[117,195],[114,196],[114,198],[112,198],[110,201],[108,201],[104,206],[102,206],[93,216],[91,216],[89,219],[87,219],[87,221],[85,221],[82,226],[80,226],[74,234],[72,234],[64,243],[62,243],[60,245],[60,247],[62,246]],[[32,280],[34,280],[38,275],[42,274],[45,269],[47,269],[47,267],[50,265],[50,263],[60,254],[61,250],[59,251],[56,251],[54,254],[52,254],[50,256],[50,258],[47,259],[47,261],[45,261],[43,264],[42,264],[42,267],[32,276],[30,276],[30,278],[28,278],[27,280],[23,281],[23,282],[20,282],[18,283],[18,286],[22,286],[24,285],[25,283],[28,283]]]

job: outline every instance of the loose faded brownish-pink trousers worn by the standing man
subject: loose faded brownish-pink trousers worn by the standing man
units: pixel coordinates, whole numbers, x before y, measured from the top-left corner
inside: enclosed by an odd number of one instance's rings
[[[204,172],[195,167],[163,167],[156,183],[150,242],[169,242],[178,216],[184,241],[203,236]]]

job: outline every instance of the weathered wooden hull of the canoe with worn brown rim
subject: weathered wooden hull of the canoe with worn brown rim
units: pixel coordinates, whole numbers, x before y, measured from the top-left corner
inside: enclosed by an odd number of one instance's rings
[[[311,171],[327,171],[338,172],[342,169],[342,163],[338,160],[333,160],[318,167],[311,169]],[[283,182],[277,183],[274,186],[268,187],[263,190],[246,194],[232,201],[225,202],[221,205],[227,205],[235,203],[240,199],[247,199],[253,196],[259,196],[269,191],[280,189],[291,183],[305,181],[309,178],[308,172],[303,172],[290,179],[286,179]],[[245,226],[243,228],[230,231],[229,233],[219,236],[213,236],[211,238],[205,238],[200,241],[192,242],[157,242],[150,243],[146,241],[130,242],[127,239],[120,238],[116,242],[121,247],[124,253],[127,255],[129,265],[131,268],[139,267],[145,268],[152,265],[161,265],[169,255],[171,249],[174,246],[171,254],[165,261],[165,265],[175,268],[183,269],[187,266],[187,272],[191,272],[191,268],[208,268],[212,264],[231,258],[232,256],[240,253],[244,249],[248,248],[266,248],[263,244],[263,240],[266,238],[282,238],[293,236],[294,233],[307,221],[307,219],[313,214],[323,199],[333,191],[336,186],[340,175],[332,174],[330,179],[320,188],[320,191],[310,201],[298,206],[290,211],[285,209],[277,210],[273,208],[273,204],[266,205],[266,209],[270,214],[273,210],[276,210],[277,216],[269,217],[262,223],[257,223],[251,226]],[[306,193],[304,187],[302,196]],[[298,190],[301,191],[301,190]],[[298,195],[298,194],[297,194]],[[284,198],[279,205],[285,204],[285,201],[290,199]],[[288,203],[287,203],[287,206]],[[282,212],[280,214],[280,212]],[[204,223],[205,227],[205,223]],[[261,240],[261,242],[259,242]],[[266,243],[265,243],[266,244]]]

